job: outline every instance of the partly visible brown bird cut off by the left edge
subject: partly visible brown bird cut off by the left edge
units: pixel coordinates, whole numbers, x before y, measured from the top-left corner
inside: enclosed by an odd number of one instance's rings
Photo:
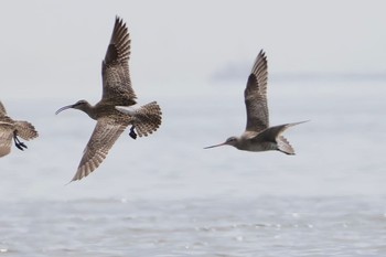
[[[7,111],[0,101],[0,157],[7,156],[11,152],[12,138],[14,146],[20,149],[26,149],[25,143],[18,138],[31,140],[39,135],[32,124],[24,120],[13,120],[7,116]]]

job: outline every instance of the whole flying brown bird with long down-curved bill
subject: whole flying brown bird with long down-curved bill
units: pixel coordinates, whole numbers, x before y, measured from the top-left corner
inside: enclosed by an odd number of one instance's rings
[[[130,36],[128,29],[120,18],[116,18],[110,43],[105,60],[101,63],[103,96],[92,106],[86,100],[60,108],[74,108],[86,113],[97,120],[94,132],[84,150],[83,158],[72,181],[87,176],[106,158],[108,151],[131,125],[130,137],[133,139],[148,136],[161,125],[161,108],[156,101],[141,106],[130,114],[124,114],[116,106],[132,106],[137,104],[136,94],[131,87],[129,74]]]

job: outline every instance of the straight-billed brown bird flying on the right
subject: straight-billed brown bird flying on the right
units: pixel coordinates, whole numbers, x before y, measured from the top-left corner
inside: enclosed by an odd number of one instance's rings
[[[287,154],[294,154],[294,150],[288,140],[281,136],[289,127],[298,124],[285,124],[269,127],[269,114],[267,105],[268,66],[266,54],[260,51],[257,55],[247,87],[244,90],[245,105],[247,107],[247,127],[240,137],[230,137],[225,142],[208,148],[233,146],[245,151],[277,150]]]

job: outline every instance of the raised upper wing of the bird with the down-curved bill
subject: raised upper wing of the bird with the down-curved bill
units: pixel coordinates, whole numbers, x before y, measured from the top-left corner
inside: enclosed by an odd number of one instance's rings
[[[101,63],[103,101],[119,106],[136,104],[129,73],[130,34],[120,18],[116,18],[110,43]]]

